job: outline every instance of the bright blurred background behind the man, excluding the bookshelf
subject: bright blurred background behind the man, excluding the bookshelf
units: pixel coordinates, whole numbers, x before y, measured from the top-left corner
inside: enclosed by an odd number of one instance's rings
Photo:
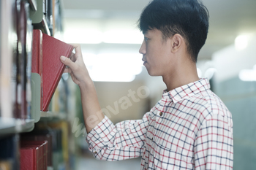
[[[83,58],[95,81],[99,103],[108,109],[113,123],[140,119],[161,98],[165,84],[161,77],[148,76],[138,53],[143,34],[137,28],[140,12],[148,0],[64,0],[65,42],[79,43]],[[234,169],[256,167],[256,1],[203,0],[210,14],[206,45],[200,51],[197,71],[208,77],[211,90],[233,114]],[[129,90],[146,96],[132,101],[128,109],[114,114],[115,102]],[[140,88],[140,89],[139,89]],[[138,90],[139,89],[139,90]],[[119,105],[120,106],[120,105]],[[129,161],[105,163],[86,155],[86,142],[81,139],[85,158],[78,169],[125,169]],[[88,166],[90,165],[90,166]],[[139,169],[140,159],[135,159]],[[88,167],[88,168],[87,168]],[[128,166],[126,169],[130,169]]]

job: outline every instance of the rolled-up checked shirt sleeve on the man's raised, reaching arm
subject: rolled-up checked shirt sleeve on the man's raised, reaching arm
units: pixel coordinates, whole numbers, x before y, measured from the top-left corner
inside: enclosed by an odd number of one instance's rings
[[[142,120],[126,120],[116,125],[107,116],[87,135],[86,141],[94,157],[105,161],[119,161],[142,155],[148,117]]]

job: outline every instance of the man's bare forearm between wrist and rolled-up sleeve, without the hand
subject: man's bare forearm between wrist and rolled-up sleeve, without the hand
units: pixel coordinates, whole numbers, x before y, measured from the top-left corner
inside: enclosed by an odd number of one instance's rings
[[[79,85],[79,87],[83,107],[83,119],[86,125],[86,131],[89,133],[103,120],[104,115],[99,106],[94,83],[89,80],[86,83]]]

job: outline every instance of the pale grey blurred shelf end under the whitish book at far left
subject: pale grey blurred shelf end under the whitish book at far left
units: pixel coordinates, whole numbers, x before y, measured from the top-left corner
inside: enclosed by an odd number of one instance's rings
[[[0,136],[32,131],[34,119],[16,119],[10,117],[0,117]]]

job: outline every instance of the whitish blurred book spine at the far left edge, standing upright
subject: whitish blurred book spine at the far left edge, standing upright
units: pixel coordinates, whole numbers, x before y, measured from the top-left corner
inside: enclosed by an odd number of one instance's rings
[[[15,117],[16,58],[18,37],[17,10],[15,0],[5,1],[0,6],[1,47],[0,47],[0,83],[1,83],[1,117]],[[7,17],[8,16],[8,17]]]

